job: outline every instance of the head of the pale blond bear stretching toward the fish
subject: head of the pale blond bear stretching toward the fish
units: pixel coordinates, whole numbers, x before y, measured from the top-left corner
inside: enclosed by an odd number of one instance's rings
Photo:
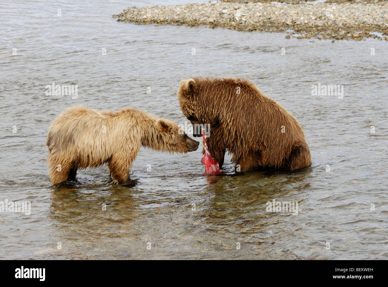
[[[198,149],[199,142],[188,137],[175,122],[161,118],[154,124],[157,131],[156,139],[151,143],[154,149],[180,153]]]

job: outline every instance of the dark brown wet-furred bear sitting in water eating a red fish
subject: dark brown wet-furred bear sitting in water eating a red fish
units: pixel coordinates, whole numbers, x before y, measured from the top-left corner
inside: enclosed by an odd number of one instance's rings
[[[220,168],[226,151],[232,154],[236,171],[311,165],[310,149],[296,119],[247,79],[182,80],[178,100],[194,126],[210,124],[206,142]],[[194,136],[201,132],[194,128]]]

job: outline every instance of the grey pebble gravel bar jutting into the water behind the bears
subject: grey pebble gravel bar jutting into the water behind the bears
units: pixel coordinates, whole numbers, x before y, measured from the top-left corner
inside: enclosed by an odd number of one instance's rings
[[[388,2],[385,1],[264,1],[132,7],[113,17],[117,17],[117,21],[137,24],[286,32],[286,38],[361,40],[372,37],[388,40]]]

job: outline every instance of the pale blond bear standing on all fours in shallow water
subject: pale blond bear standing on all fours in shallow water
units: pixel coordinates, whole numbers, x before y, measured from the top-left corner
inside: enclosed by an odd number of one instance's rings
[[[174,122],[133,108],[113,112],[78,106],[52,122],[46,145],[53,185],[75,177],[78,168],[105,163],[114,182],[124,184],[140,146],[186,153],[196,151],[199,142]]]

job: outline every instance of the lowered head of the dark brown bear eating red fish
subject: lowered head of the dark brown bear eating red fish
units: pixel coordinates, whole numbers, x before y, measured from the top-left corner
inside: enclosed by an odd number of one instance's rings
[[[217,116],[215,117],[217,113],[210,112],[213,107],[209,107],[209,104],[206,105],[206,93],[201,93],[200,84],[199,80],[181,80],[178,89],[179,105],[185,117],[194,126],[194,137],[202,136],[199,127],[206,128],[208,124],[214,127],[219,124],[219,119],[216,118]]]

